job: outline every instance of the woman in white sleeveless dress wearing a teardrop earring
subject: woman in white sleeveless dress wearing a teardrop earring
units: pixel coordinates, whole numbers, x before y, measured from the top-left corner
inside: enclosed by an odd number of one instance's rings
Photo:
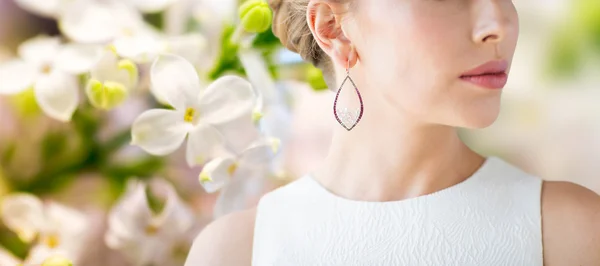
[[[337,108],[324,166],[207,226],[187,266],[600,265],[597,194],[457,136],[498,115],[518,37],[512,1],[270,5],[282,43],[332,88],[350,76],[364,110]],[[336,105],[358,97],[344,86]]]

